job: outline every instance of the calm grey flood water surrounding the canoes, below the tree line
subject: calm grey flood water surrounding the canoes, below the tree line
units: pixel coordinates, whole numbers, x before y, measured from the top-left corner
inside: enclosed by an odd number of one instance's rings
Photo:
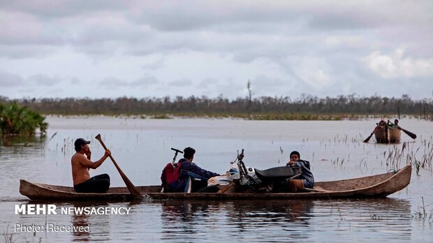
[[[133,119],[47,117],[45,137],[0,140],[0,229],[6,242],[431,242],[433,239],[432,162],[418,175],[416,161],[432,156],[433,123],[401,119],[418,135],[402,144],[362,140],[376,121],[245,121],[240,119]],[[92,159],[103,155],[94,137],[101,133],[123,172],[138,185],[161,184],[161,170],[173,159],[171,147],[194,147],[194,161],[224,173],[245,149],[244,162],[265,169],[285,165],[291,151],[311,162],[316,181],[376,175],[412,162],[411,184],[381,199],[43,202],[57,208],[131,208],[121,214],[15,214],[34,202],[19,193],[20,179],[71,186],[76,138],[91,140]],[[409,159],[408,159],[409,158]],[[179,158],[178,158],[179,159]],[[108,173],[112,186],[124,186],[110,160],[91,175]],[[17,205],[17,206],[16,206]],[[89,226],[89,232],[22,232],[22,226]],[[21,226],[22,225],[22,226]],[[25,230],[24,230],[25,231]]]

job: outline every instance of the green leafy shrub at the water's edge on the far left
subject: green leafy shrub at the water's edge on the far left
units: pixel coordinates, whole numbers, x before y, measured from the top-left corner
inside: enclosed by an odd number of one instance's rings
[[[48,124],[38,112],[20,106],[16,102],[0,103],[0,134],[32,135],[39,129],[46,133]]]

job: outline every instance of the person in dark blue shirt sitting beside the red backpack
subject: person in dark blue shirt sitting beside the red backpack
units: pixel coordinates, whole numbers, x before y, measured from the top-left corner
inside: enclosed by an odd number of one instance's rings
[[[186,147],[184,149],[184,159],[180,159],[177,162],[177,166],[181,166],[180,176],[179,176],[179,180],[181,182],[184,182],[185,179],[187,179],[188,177],[195,178],[191,180],[192,182],[191,192],[196,192],[200,189],[204,189],[207,186],[208,179],[210,179],[211,177],[219,176],[218,173],[214,173],[209,170],[204,170],[198,167],[196,163],[193,163],[194,154],[196,154],[196,149],[193,149],[192,147]]]

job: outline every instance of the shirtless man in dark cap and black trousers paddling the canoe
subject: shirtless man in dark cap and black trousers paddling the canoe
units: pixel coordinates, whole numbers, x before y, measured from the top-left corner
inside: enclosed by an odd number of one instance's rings
[[[74,142],[75,154],[71,159],[73,187],[78,193],[105,193],[110,187],[110,176],[103,174],[90,178],[89,170],[98,168],[111,155],[111,152],[107,149],[101,159],[91,162],[89,143],[90,141],[82,138]]]

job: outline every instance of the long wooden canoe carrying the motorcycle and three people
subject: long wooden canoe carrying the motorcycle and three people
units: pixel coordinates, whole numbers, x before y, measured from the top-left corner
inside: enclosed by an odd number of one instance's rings
[[[411,181],[411,165],[381,175],[332,182],[316,182],[315,189],[302,193],[161,193],[161,186],[137,186],[146,198],[177,200],[263,200],[298,198],[370,198],[386,197],[404,189]],[[113,187],[107,193],[75,193],[73,187],[53,186],[20,180],[20,193],[31,200],[131,200],[126,187]]]

